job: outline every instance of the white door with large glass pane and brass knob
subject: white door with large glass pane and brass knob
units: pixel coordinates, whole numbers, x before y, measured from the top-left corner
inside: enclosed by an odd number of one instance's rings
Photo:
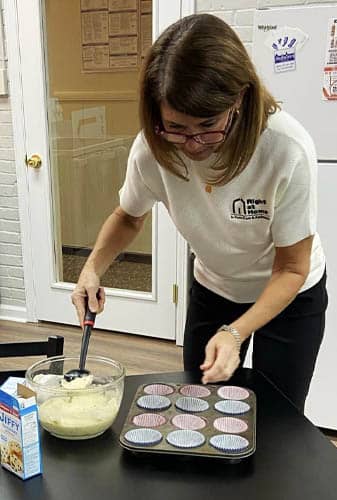
[[[139,130],[139,67],[152,37],[180,17],[181,2],[26,0],[6,8],[17,9],[36,318],[77,324],[70,294],[118,204]],[[97,327],[174,339],[176,255],[176,229],[157,204],[102,278],[107,302]]]

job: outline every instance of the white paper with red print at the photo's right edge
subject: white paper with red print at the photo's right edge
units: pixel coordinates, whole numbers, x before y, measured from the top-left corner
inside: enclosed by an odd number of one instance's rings
[[[329,19],[324,61],[323,100],[337,100],[337,17]]]

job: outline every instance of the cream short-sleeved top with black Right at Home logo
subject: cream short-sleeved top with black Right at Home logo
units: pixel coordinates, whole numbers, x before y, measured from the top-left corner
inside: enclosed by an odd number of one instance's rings
[[[195,278],[235,302],[255,302],[271,275],[275,246],[315,235],[309,275],[301,289],[323,275],[325,257],[316,233],[317,160],[306,130],[285,111],[271,115],[241,174],[206,192],[203,171],[212,159],[184,157],[189,182],[161,167],[142,133],[130,150],[120,205],[133,216],[156,201],[196,254]]]

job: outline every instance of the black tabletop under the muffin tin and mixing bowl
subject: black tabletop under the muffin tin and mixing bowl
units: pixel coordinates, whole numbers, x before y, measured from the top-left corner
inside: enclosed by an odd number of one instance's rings
[[[252,389],[257,398],[256,452],[233,464],[124,450],[119,434],[139,385],[200,380],[179,372],[129,376],[125,382],[111,429],[86,441],[42,431],[43,475],[22,481],[0,469],[0,499],[336,500],[336,448],[262,374],[241,369],[230,381]]]

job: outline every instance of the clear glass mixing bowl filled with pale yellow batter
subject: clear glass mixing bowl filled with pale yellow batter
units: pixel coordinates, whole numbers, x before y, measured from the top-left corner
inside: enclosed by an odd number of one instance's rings
[[[64,374],[78,368],[79,357],[56,356],[28,368],[26,381],[37,397],[41,426],[63,439],[89,439],[115,420],[123,397],[125,369],[101,356],[88,356],[90,372],[73,382]]]

